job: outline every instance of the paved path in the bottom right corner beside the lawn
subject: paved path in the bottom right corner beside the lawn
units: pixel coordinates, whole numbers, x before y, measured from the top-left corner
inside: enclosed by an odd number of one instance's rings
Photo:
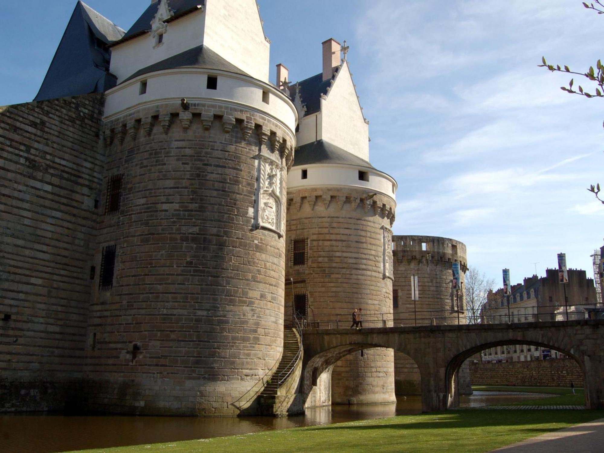
[[[507,453],[601,453],[604,451],[604,419],[548,432],[493,451]]]

